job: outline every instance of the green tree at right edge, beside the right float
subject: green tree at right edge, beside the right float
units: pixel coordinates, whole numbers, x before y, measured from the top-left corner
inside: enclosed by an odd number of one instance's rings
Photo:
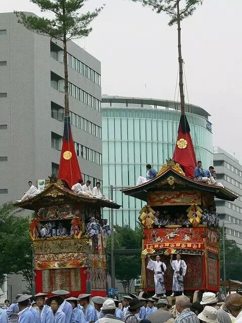
[[[219,228],[219,237],[220,237],[220,277],[223,280],[223,231],[222,228]],[[224,239],[225,245],[225,270],[226,270],[226,279],[233,279],[241,281],[242,276],[242,250],[236,245],[234,240]]]

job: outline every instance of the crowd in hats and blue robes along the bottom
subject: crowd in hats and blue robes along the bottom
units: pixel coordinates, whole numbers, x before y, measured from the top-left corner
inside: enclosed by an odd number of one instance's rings
[[[68,291],[32,295],[18,294],[11,305],[0,307],[0,323],[241,323],[242,296],[234,293],[218,302],[205,292],[201,302],[191,303],[186,295],[175,298],[171,306],[166,297],[144,298],[129,294],[117,297],[67,297]],[[143,294],[145,296],[145,293]]]

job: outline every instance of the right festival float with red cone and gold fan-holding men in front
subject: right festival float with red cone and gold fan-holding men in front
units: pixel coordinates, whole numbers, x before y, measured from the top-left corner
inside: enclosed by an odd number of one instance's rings
[[[177,253],[187,264],[186,295],[219,291],[219,218],[214,199],[234,201],[237,196],[223,187],[194,180],[196,164],[189,124],[181,115],[172,159],[162,165],[154,179],[122,190],[147,203],[139,216],[144,228],[140,287],[150,295],[155,286],[147,269],[147,255],[154,260],[160,255],[166,264],[164,284],[169,295],[173,277],[170,255],[174,254],[174,260]]]

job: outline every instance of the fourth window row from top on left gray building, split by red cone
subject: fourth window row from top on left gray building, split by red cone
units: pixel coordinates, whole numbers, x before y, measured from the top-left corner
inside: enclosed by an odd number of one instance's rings
[[[75,150],[77,153],[77,156],[80,156],[82,158],[85,158],[87,160],[92,161],[95,164],[102,165],[102,154],[90,149],[86,146],[81,145],[78,142],[74,142],[75,144]],[[62,136],[51,132],[51,147],[56,150],[62,149]]]

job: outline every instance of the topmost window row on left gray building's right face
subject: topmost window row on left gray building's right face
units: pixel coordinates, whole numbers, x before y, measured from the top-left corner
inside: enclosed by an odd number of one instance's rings
[[[89,80],[101,85],[101,75],[69,53],[67,53],[67,64],[74,70],[87,77]]]

